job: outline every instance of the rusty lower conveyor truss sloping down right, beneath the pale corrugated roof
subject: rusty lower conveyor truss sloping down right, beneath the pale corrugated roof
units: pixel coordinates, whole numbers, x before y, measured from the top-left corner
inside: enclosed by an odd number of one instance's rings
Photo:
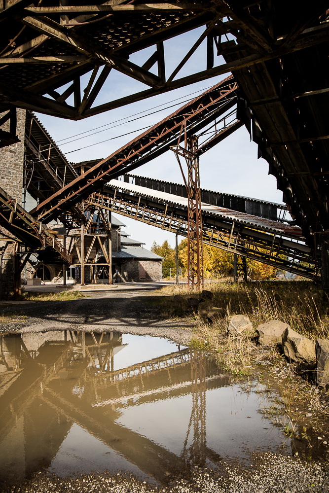
[[[88,202],[187,237],[187,207],[176,205],[174,196],[173,202],[159,197],[152,199],[147,195],[147,189],[146,194],[132,193],[125,190],[123,185],[124,183],[116,181],[106,188],[106,193],[91,194]],[[255,216],[250,217],[255,219]],[[308,279],[317,279],[318,253],[305,245],[298,236],[294,236],[292,227],[277,223],[278,231],[275,232],[275,223],[271,223],[272,228],[266,228],[261,220],[257,226],[255,222],[246,223],[245,218],[232,220],[224,214],[203,211],[202,240],[206,245],[243,255]],[[295,229],[301,233],[299,228]]]

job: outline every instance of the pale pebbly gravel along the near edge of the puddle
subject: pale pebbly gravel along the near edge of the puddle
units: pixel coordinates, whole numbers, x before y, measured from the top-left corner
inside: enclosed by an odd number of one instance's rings
[[[253,454],[253,467],[223,462],[220,471],[195,467],[189,481],[178,480],[167,486],[154,487],[131,475],[91,474],[80,478],[58,478],[37,474],[15,487],[3,485],[3,493],[23,492],[112,492],[112,493],[327,493],[328,463],[304,463],[271,453]]]

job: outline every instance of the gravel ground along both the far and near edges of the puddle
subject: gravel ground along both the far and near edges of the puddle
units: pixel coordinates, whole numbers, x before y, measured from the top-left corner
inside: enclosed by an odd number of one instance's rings
[[[159,310],[144,304],[147,291],[95,293],[73,301],[42,302],[14,306],[5,310],[15,314],[0,326],[1,332],[41,332],[47,330],[110,331],[154,335],[187,345],[193,321],[163,320]],[[219,468],[192,469],[189,481],[178,479],[154,486],[129,474],[91,474],[78,478],[59,478],[43,472],[16,485],[0,485],[3,493],[23,492],[155,492],[165,493],[299,493],[329,492],[329,462],[307,461],[273,453],[254,453],[251,463],[222,460]]]

